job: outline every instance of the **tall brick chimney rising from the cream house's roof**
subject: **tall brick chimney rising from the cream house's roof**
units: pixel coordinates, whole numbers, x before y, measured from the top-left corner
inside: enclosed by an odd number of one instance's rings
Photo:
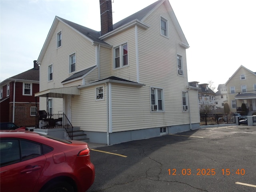
[[[111,0],[100,0],[100,24],[101,35],[113,30]]]

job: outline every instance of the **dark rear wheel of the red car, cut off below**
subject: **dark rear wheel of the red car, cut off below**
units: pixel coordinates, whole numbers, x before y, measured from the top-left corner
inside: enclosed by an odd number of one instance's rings
[[[74,192],[74,188],[68,182],[59,181],[46,186],[41,192]]]

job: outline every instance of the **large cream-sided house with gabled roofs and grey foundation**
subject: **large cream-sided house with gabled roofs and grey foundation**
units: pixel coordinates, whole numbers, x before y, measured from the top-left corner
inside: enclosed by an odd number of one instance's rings
[[[64,113],[90,142],[115,144],[199,128],[198,90],[188,86],[188,42],[168,0],[101,31],[56,16],[40,64],[40,110]]]

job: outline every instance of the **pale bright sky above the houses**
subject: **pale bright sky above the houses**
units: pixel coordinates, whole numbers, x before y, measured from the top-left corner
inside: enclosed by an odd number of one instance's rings
[[[112,0],[113,24],[156,0]],[[169,0],[190,45],[188,81],[256,72],[256,0]],[[55,16],[100,31],[99,0],[0,0],[0,81],[33,68]]]

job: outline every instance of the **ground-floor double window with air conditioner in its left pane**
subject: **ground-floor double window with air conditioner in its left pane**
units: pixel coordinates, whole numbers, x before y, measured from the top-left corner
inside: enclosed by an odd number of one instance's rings
[[[150,88],[151,111],[163,111],[163,90],[160,88]]]

